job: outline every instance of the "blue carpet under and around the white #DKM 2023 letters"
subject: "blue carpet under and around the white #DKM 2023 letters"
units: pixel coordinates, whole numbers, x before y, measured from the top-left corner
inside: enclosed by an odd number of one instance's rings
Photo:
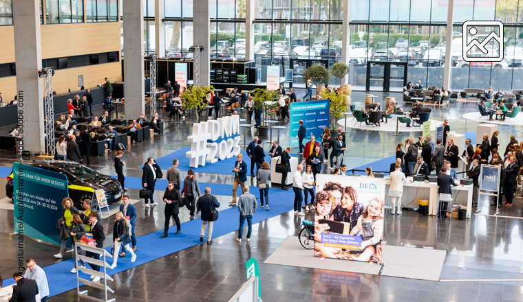
[[[189,165],[191,159],[185,156],[187,151],[190,151],[190,147],[185,147],[175,152],[171,152],[166,156],[162,156],[159,159],[156,159],[156,163],[164,170],[169,169],[173,165],[173,159],[178,159],[178,169],[183,172],[193,170],[194,172],[200,173],[209,173],[209,174],[233,174],[233,168],[236,162],[236,156],[231,157],[230,159],[224,159],[223,161],[217,161],[216,163],[205,163],[204,166],[197,168],[191,167]],[[244,161],[247,163],[247,176],[250,176],[250,158],[247,156],[247,152],[240,151],[244,156]],[[291,156],[296,156],[296,154],[290,154]],[[270,156],[268,152],[265,152],[265,160],[270,165]],[[140,168],[143,165],[140,165]]]

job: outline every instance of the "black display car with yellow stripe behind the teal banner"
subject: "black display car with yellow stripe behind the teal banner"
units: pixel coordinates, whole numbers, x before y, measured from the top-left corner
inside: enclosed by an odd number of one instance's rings
[[[109,205],[120,201],[122,198],[123,189],[116,179],[100,174],[80,163],[71,161],[34,161],[28,165],[65,174],[69,187],[69,197],[72,198],[74,207],[78,209],[82,209],[81,204],[83,200],[93,198],[94,191],[97,189],[103,189]],[[6,195],[12,199],[13,193],[13,174],[11,172],[6,184]]]

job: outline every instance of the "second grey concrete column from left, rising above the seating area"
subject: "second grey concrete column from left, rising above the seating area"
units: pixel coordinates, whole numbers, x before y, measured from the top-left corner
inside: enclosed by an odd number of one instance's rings
[[[145,111],[143,0],[122,2],[125,118],[134,119]]]

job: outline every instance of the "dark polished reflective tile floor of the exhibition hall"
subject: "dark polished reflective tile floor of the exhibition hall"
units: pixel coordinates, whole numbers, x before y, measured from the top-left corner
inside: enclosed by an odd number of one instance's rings
[[[299,93],[304,94],[303,91]],[[401,100],[400,93],[379,95],[378,100],[382,104],[387,96]],[[353,93],[352,100],[356,108],[362,106],[363,97],[361,92]],[[96,112],[100,111],[101,108],[96,108]],[[473,111],[476,111],[473,104],[451,104],[449,108],[432,111],[431,118],[449,119],[451,130],[456,132],[475,131],[478,123],[461,118],[462,114]],[[125,175],[141,176],[141,170],[136,167],[142,165],[148,156],[158,158],[189,146],[185,140],[190,135],[190,129],[190,120],[182,124],[168,123],[162,137],[129,146],[124,156],[127,160]],[[0,131],[3,133],[6,128]],[[255,128],[251,129],[250,136],[256,135],[255,131]],[[504,146],[509,135],[518,136],[521,129],[501,126],[500,132],[500,142]],[[400,137],[394,137],[387,132],[350,129],[347,135],[350,152],[345,154],[345,163],[349,163],[349,167],[357,167],[393,155],[396,143],[417,134],[403,133]],[[284,137],[288,137],[288,132]],[[517,138],[523,139],[523,136]],[[265,147],[268,151],[268,147]],[[14,153],[0,152],[0,165],[9,166],[14,159]],[[114,174],[112,163],[111,153],[92,158],[93,167],[105,174]],[[167,168],[162,167],[164,170]],[[198,179],[200,182],[226,185],[233,183],[233,177],[229,174],[199,173]],[[1,178],[0,187],[3,188],[5,182],[5,178]],[[129,193],[138,196],[138,189],[129,189]],[[521,194],[517,191],[518,198],[512,208],[501,209],[502,216],[522,217]],[[0,199],[4,197],[5,192],[1,190]],[[158,192],[156,198],[160,197],[161,192]],[[221,202],[228,199],[220,196]],[[482,198],[479,204],[480,213],[494,213],[487,198]],[[138,202],[136,207],[137,236],[163,228],[162,207],[145,209],[142,202]],[[0,210],[0,272],[3,276],[10,276],[16,270],[16,242],[9,235],[13,229],[12,215],[12,211]],[[180,219],[182,222],[189,220],[186,208],[182,209]],[[113,288],[116,288],[116,292],[113,297],[116,297],[116,301],[228,301],[246,279],[246,260],[255,257],[260,264],[264,301],[523,301],[523,220],[475,214],[469,221],[438,220],[420,216],[416,211],[404,211],[402,216],[387,215],[385,244],[447,251],[440,282],[264,264],[264,260],[287,236],[297,235],[300,221],[292,212],[284,213],[255,224],[250,243],[238,244],[235,242],[235,233],[229,233],[215,238],[215,243],[210,246],[198,244],[120,272],[114,276]],[[102,223],[107,229],[111,222],[105,219]],[[109,234],[106,245],[111,240]],[[138,239],[138,253],[141,248],[151,247],[140,246]],[[28,240],[25,254],[26,257],[34,257],[39,265],[47,266],[57,262],[52,257],[56,249]],[[96,291],[93,294],[96,295]],[[72,300],[76,300],[76,290],[48,301]]]

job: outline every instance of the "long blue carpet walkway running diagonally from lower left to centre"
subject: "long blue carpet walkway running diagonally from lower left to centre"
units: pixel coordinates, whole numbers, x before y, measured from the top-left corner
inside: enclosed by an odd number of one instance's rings
[[[139,178],[136,180],[130,178],[131,177],[126,178],[126,181],[127,179],[129,179],[130,183],[136,183],[136,181],[139,181]],[[217,185],[204,183],[200,185],[201,187],[211,187],[211,189],[213,190],[213,194],[217,195],[220,194],[220,192],[222,192],[223,194],[226,193],[226,195],[230,195],[232,191],[232,185]],[[259,191],[257,189],[251,189],[251,193],[259,197]],[[281,189],[271,188],[269,189],[269,200],[270,211],[266,211],[265,209],[258,209],[255,215],[253,216],[253,224],[261,222],[262,220],[267,220],[269,218],[279,216],[281,215],[281,213],[286,213],[292,210],[294,193],[292,191],[282,191]],[[281,202],[281,200],[285,200],[285,202]],[[228,205],[222,203],[220,207],[224,208],[228,207]],[[237,231],[238,224],[239,213],[237,207],[220,211],[220,218],[214,223],[213,226],[213,237],[216,238]],[[151,262],[153,260],[170,255],[172,253],[182,251],[183,249],[195,246],[196,244],[201,244],[201,226],[202,221],[200,219],[189,220],[188,222],[182,223],[182,233],[180,235],[174,235],[175,227],[171,227],[171,229],[169,229],[169,237],[167,238],[160,238],[160,235],[162,235],[163,230],[138,237],[138,250],[136,251],[136,255],[138,255],[138,258],[136,259],[136,262],[131,263],[130,257],[119,257],[118,267],[116,267],[114,270],[107,269],[108,274],[114,275],[118,272],[129,270],[129,268],[140,266],[142,264],[146,264],[147,262]],[[205,241],[204,244],[206,244]],[[105,242],[105,246],[109,246],[109,242]],[[147,246],[153,246],[154,248],[147,248]],[[110,251],[110,246],[105,249],[107,251]],[[49,257],[52,256],[49,255]],[[107,262],[109,264],[112,264],[112,258],[107,257]],[[73,266],[73,259],[67,259],[58,262],[57,264],[52,264],[43,268],[43,270],[45,270],[45,274],[47,275],[47,280],[49,281],[50,297],[76,288],[76,279],[74,278],[74,275],[70,273],[70,270]],[[89,276],[85,275],[83,272],[80,272],[80,274],[83,275],[84,278],[89,278]],[[60,280],[60,282],[54,282],[55,280]],[[12,278],[4,280],[4,286],[8,286],[13,283],[14,280]],[[114,286],[113,283],[109,282],[109,287],[111,285]]]

